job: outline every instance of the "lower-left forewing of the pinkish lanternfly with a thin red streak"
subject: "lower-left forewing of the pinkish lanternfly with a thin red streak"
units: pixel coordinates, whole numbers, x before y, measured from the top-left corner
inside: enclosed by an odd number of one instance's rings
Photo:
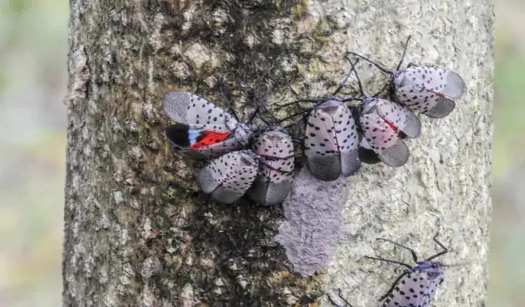
[[[387,166],[400,167],[408,160],[409,151],[398,133],[376,112],[374,103],[365,105],[359,117],[363,137]]]

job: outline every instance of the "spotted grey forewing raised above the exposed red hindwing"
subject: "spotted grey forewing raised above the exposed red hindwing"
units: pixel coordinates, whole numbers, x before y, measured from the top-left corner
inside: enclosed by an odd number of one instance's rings
[[[229,132],[237,120],[222,108],[192,93],[173,91],[164,93],[162,106],[167,116],[192,129],[219,133]]]

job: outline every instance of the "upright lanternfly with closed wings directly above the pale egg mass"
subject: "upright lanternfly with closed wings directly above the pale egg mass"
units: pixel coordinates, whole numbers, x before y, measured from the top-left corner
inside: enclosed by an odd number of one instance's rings
[[[352,111],[346,106],[350,100],[336,96],[352,70],[353,67],[333,94],[320,100],[302,99],[290,103],[310,102],[315,105],[281,120],[309,112],[304,131],[304,156],[312,176],[322,181],[333,181],[341,175],[349,177],[361,167],[358,131]]]

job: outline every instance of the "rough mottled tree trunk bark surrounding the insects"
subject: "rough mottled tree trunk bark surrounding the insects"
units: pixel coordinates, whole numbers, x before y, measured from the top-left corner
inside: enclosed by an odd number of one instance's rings
[[[117,3],[117,4],[115,4]],[[490,214],[492,2],[432,0],[71,0],[65,204],[66,306],[316,305],[342,288],[373,306],[409,260],[376,237],[426,256],[440,231],[453,251],[435,305],[482,306]],[[422,118],[405,167],[364,166],[348,179],[345,238],[324,274],[300,277],[271,238],[281,207],[206,203],[194,167],[172,154],[167,85],[238,108],[271,82],[269,105],[333,90],[359,51],[460,73],[467,93],[447,118]],[[270,80],[271,81],[268,81]],[[371,92],[371,91],[370,91]],[[195,164],[195,163],[194,163]],[[324,283],[324,284],[323,284]]]

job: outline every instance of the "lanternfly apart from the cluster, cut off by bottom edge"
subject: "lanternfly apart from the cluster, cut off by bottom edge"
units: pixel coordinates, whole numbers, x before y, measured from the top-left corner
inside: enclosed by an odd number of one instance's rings
[[[443,250],[422,261],[417,260],[416,252],[411,248],[395,243],[392,240],[384,238],[377,239],[409,250],[416,263],[416,266],[411,266],[395,260],[365,256],[365,258],[368,259],[402,265],[408,269],[397,278],[392,288],[379,299],[379,301],[382,301],[381,307],[428,307],[430,305],[437,287],[444,281],[442,272],[443,264],[434,259],[448,253],[448,249],[437,240],[437,236],[438,234],[434,236],[433,240],[439,247],[443,248]]]

